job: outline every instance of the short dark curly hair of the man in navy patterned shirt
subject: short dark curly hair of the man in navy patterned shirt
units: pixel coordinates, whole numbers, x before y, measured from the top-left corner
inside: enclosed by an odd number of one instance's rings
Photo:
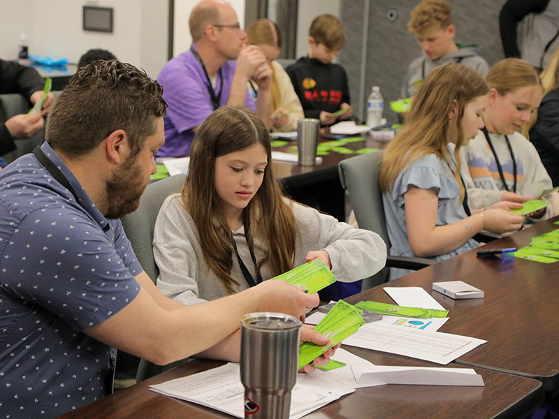
[[[157,131],[167,104],[161,85],[120,61],[95,61],[72,76],[52,105],[45,131],[50,146],[68,157],[84,156],[122,129],[132,156]]]

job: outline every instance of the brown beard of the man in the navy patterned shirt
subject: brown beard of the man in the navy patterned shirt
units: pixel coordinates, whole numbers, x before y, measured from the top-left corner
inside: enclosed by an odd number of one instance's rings
[[[107,219],[119,219],[136,211],[140,198],[147,186],[143,179],[140,165],[133,156],[126,159],[124,166],[112,174],[106,181]]]

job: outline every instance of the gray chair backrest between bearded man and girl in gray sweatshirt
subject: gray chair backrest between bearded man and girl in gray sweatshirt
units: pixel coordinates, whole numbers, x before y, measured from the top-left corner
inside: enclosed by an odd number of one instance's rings
[[[182,190],[186,175],[175,175],[147,185],[138,210],[122,218],[126,236],[132,244],[138,262],[154,281],[159,275],[153,258],[153,229],[159,209],[164,200],[172,193]]]

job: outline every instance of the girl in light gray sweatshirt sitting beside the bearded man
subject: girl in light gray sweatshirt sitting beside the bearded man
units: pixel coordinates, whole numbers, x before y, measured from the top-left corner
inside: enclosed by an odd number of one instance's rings
[[[377,234],[285,198],[271,160],[254,112],[219,108],[202,124],[182,194],[167,198],[154,230],[164,295],[214,300],[316,258],[342,282],[382,269],[386,246]]]

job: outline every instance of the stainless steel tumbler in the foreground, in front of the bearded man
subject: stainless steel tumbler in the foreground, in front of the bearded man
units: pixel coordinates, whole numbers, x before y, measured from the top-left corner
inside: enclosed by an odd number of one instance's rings
[[[297,379],[301,322],[282,313],[252,313],[241,321],[245,419],[288,419],[291,389]]]

